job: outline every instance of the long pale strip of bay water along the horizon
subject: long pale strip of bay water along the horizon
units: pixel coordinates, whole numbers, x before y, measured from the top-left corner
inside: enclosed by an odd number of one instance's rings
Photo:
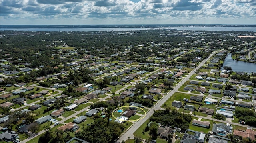
[[[93,26],[91,26],[93,27]],[[252,31],[256,32],[256,27],[209,27],[209,26],[198,26],[198,27],[93,27],[90,26],[59,26],[59,25],[3,25],[0,26],[0,30],[14,30],[14,31],[80,31],[80,32],[93,32],[93,31],[140,31],[140,30],[155,30],[171,28],[177,30],[191,30],[191,31]]]

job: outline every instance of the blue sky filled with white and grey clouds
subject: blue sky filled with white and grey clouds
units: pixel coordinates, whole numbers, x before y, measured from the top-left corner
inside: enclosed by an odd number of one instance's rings
[[[256,24],[256,0],[0,0],[0,24]]]

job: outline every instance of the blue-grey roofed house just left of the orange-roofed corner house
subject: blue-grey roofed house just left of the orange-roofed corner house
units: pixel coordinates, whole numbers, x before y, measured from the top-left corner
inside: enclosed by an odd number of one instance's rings
[[[213,127],[212,127],[212,133],[214,135],[219,135],[219,136],[224,136],[226,137],[226,135],[229,133],[229,127],[224,124],[224,123],[214,123]]]

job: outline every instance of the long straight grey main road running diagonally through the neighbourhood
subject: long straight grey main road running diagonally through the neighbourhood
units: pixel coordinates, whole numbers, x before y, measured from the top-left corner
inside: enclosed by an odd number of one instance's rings
[[[215,53],[215,52],[214,52]],[[136,123],[134,123],[132,125],[132,127],[130,127],[130,129],[128,129],[121,137],[119,137],[117,142],[122,142],[122,140],[127,140],[128,137],[130,137],[131,139],[134,138],[133,133],[144,123],[146,122],[146,120],[148,118],[150,118],[150,116],[152,116],[152,114],[154,113],[154,110],[159,110],[161,109],[161,105],[164,104],[164,102],[166,102],[166,100],[168,100],[172,94],[174,94],[175,92],[178,91],[178,88],[180,88],[180,86],[182,86],[193,74],[194,72],[199,69],[210,57],[212,57],[212,55],[214,55],[214,53],[210,54],[210,56],[207,59],[204,59],[204,61],[202,61],[198,67],[196,67],[195,69],[193,69],[190,74],[188,74],[188,76],[186,76],[185,78],[183,78],[183,80],[178,83],[173,90],[171,90],[168,94],[166,94],[166,96],[164,96],[161,100],[159,100],[155,106],[153,106],[152,108],[150,108],[150,110],[148,110],[146,117],[142,118],[141,120],[137,121]]]

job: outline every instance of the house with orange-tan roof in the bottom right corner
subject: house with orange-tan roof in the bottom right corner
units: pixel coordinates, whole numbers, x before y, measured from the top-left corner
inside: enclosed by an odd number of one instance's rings
[[[244,138],[250,138],[252,141],[255,141],[256,139],[256,131],[252,129],[246,129],[245,131],[235,129],[233,134],[234,134],[234,138],[237,138],[240,140]]]

